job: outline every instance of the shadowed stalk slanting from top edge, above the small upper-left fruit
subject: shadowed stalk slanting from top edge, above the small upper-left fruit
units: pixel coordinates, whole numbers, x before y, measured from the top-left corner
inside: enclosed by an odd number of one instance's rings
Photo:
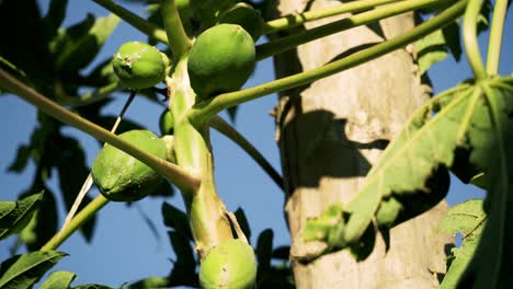
[[[166,35],[166,32],[163,30],[139,18],[137,14],[126,10],[125,8],[116,4],[114,1],[112,0],[92,0],[92,1],[96,2],[98,4],[111,11],[112,13],[116,14],[117,16],[119,16],[121,19],[123,19],[128,24],[136,27],[144,34],[150,37],[153,37],[155,39],[163,44],[169,43],[168,36]]]

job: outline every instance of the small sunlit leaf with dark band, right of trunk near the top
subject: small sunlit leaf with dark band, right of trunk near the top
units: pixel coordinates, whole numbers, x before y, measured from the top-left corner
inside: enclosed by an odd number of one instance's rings
[[[421,76],[425,73],[431,66],[447,57],[446,41],[441,30],[419,39],[414,45],[417,48],[419,73]]]

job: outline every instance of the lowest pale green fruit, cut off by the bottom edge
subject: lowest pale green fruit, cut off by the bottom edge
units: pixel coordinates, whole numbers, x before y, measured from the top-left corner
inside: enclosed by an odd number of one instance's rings
[[[212,248],[200,266],[202,288],[246,289],[256,279],[253,248],[239,239],[228,240]]]

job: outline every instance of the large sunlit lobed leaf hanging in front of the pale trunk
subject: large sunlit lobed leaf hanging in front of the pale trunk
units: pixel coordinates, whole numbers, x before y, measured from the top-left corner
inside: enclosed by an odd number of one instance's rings
[[[490,152],[497,148],[482,88],[499,91],[491,99],[510,100],[511,93],[498,95],[511,90],[512,83],[513,77],[464,83],[420,108],[372,169],[366,184],[343,206],[345,224],[338,228],[338,238],[330,238],[329,248],[358,242],[375,216],[381,218],[376,220],[378,224],[391,227],[429,208],[419,205],[432,201],[434,206],[447,190],[446,184],[441,185],[446,180],[438,180],[440,175],[446,177],[441,173],[445,167],[464,182],[479,172],[487,173]],[[513,104],[504,100],[501,104],[504,106],[498,111],[510,114],[511,122]],[[419,203],[419,198],[424,199]]]

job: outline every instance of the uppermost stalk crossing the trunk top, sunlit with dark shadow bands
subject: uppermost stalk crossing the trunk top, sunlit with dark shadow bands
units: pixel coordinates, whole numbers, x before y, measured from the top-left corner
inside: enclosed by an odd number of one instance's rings
[[[342,3],[340,5],[328,9],[319,9],[315,11],[307,11],[304,13],[290,14],[265,23],[263,34],[271,34],[283,30],[288,30],[292,27],[303,25],[310,21],[340,15],[342,13],[356,13],[390,2],[397,2],[397,0],[363,0]]]

